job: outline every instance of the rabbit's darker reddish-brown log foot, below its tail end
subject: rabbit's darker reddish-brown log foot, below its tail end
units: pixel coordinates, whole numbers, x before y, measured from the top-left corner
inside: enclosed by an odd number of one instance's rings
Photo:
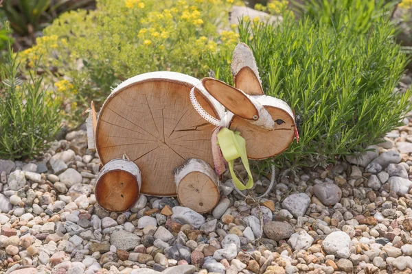
[[[99,172],[96,200],[110,212],[124,212],[131,208],[140,195],[141,174],[135,163],[115,159]]]

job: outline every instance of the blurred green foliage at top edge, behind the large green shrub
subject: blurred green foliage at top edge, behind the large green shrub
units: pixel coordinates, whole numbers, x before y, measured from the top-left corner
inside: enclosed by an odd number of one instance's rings
[[[352,32],[364,34],[383,14],[391,12],[396,3],[398,1],[393,0],[308,0],[295,3],[295,10],[314,23],[332,25],[336,30],[345,24]]]

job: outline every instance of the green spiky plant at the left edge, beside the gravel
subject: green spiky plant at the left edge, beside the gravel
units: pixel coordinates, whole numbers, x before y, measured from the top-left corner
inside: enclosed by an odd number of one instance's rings
[[[19,64],[8,42],[1,64],[0,158],[32,158],[43,151],[59,129],[60,102],[47,95],[41,77],[17,77]]]

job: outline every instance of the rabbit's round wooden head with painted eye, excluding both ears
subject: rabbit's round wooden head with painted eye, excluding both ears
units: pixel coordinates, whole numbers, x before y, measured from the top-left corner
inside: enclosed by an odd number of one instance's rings
[[[239,116],[229,114],[229,129],[240,132],[246,140],[247,157],[253,160],[271,158],[285,151],[295,138],[295,119],[290,107],[282,100],[262,95],[254,97],[271,114],[275,128],[264,129]]]

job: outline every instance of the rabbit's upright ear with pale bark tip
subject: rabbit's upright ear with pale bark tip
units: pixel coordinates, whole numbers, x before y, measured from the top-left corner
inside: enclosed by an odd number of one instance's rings
[[[264,95],[258,66],[256,66],[253,53],[242,42],[233,51],[231,73],[236,88],[242,90],[247,95]]]

